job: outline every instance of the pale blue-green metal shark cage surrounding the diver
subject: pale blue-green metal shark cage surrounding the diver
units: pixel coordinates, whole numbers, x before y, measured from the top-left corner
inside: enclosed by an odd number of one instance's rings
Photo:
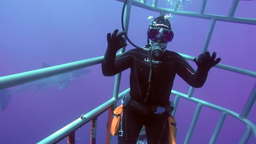
[[[124,2],[124,0],[116,0],[116,1]],[[234,17],[234,13],[236,12],[236,8],[239,4],[239,0],[233,1],[233,3],[231,4],[231,7],[229,9],[228,15],[205,14],[204,11],[205,11],[205,6],[206,6],[207,0],[201,1],[201,7],[198,12],[180,11],[177,9],[179,1],[180,0],[174,1],[174,2],[176,2],[175,3],[176,6],[174,6],[174,9],[166,9],[163,7],[158,7],[157,0],[153,0],[152,4],[146,4],[146,0],[141,0],[141,1],[129,0],[129,1],[127,1],[126,10],[124,13],[125,29],[128,29],[127,26],[129,24],[130,12],[131,12],[132,5],[141,7],[142,9],[146,9],[149,11],[159,12],[160,15],[163,15],[165,13],[167,13],[167,14],[172,13],[175,15],[183,15],[186,17],[208,19],[208,20],[210,20],[210,26],[209,26],[209,30],[207,31],[207,36],[206,36],[204,46],[202,49],[202,52],[204,52],[205,50],[207,50],[207,47],[209,46],[211,36],[212,36],[213,30],[214,30],[214,26],[217,21],[226,21],[226,22],[235,22],[235,23],[245,23],[245,24],[250,24],[250,25],[256,25],[256,19]],[[125,51],[124,48],[121,49],[121,53],[123,53],[124,51]],[[117,53],[117,56],[121,55],[121,53]],[[182,57],[184,57],[185,59],[190,60],[190,61],[193,61],[193,59],[195,58],[190,55],[186,55],[186,54],[182,54],[182,53],[180,53],[180,54],[182,55]],[[0,77],[0,89],[5,89],[7,87],[20,85],[23,83],[33,82],[38,79],[43,79],[46,77],[67,73],[69,71],[73,71],[73,70],[77,70],[77,69],[81,69],[81,68],[85,68],[85,67],[99,65],[101,63],[102,59],[103,59],[103,56],[97,57],[97,58],[92,58],[92,59],[86,59],[86,60],[82,60],[82,61],[70,62],[70,63],[66,63],[63,65],[47,67],[47,68],[33,70],[33,71],[27,71],[25,73],[3,76],[3,77]],[[215,67],[223,69],[223,70],[232,71],[234,73],[251,76],[253,78],[256,77],[255,71],[250,71],[250,70],[241,69],[241,68],[237,68],[237,67],[233,67],[233,66],[223,65],[221,63],[219,63]],[[63,127],[59,131],[51,134],[49,137],[43,139],[42,141],[40,141],[38,143],[39,144],[41,144],[41,143],[58,143],[59,141],[61,141],[62,139],[66,138],[66,137],[68,139],[68,143],[75,143],[75,131],[90,121],[91,121],[90,143],[95,143],[95,138],[96,138],[96,134],[95,134],[96,130],[95,129],[97,129],[97,126],[96,126],[97,125],[97,117],[108,110],[106,144],[109,144],[110,140],[111,140],[109,127],[110,127],[110,123],[111,123],[111,119],[112,119],[112,115],[113,115],[113,110],[116,106],[117,101],[119,99],[121,99],[125,93],[130,91],[130,89],[127,89],[118,94],[120,81],[121,81],[121,74],[117,74],[116,78],[115,78],[113,98],[109,99],[108,101],[106,101],[105,103],[100,105],[99,107],[91,110],[89,113],[82,115],[81,117],[77,118],[74,122],[71,122],[67,126]],[[234,117],[236,119],[239,119],[239,121],[246,124],[246,126],[247,126],[247,128],[243,134],[243,137],[241,138],[239,143],[247,143],[249,141],[250,137],[252,136],[252,134],[254,135],[254,137],[256,137],[255,124],[253,124],[249,119],[247,119],[247,116],[249,115],[249,113],[255,103],[255,100],[256,100],[256,84],[254,85],[253,90],[252,90],[251,94],[249,95],[247,102],[244,105],[242,113],[240,113],[240,114],[235,113],[234,111],[231,111],[229,109],[214,105],[212,103],[203,101],[201,99],[194,98],[193,97],[194,87],[191,87],[191,86],[190,86],[187,94],[181,93],[178,91],[174,91],[174,90],[172,90],[171,93],[173,95],[175,95],[175,99],[174,99],[175,108],[173,111],[173,115],[175,114],[175,110],[178,106],[180,98],[197,103],[197,106],[195,109],[195,114],[191,121],[189,130],[188,130],[188,133],[187,133],[187,136],[185,139],[185,143],[190,142],[190,139],[193,135],[192,133],[195,129],[195,125],[196,125],[198,116],[200,115],[202,107],[208,107],[213,110],[217,110],[217,111],[221,112],[218,123],[215,126],[215,130],[211,136],[211,140],[209,143],[216,142],[227,115]]]

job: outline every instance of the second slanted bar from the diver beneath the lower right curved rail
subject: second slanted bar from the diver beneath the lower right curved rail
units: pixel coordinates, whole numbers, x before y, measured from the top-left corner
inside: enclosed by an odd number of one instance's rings
[[[198,105],[196,106],[195,114],[193,116],[192,122],[190,124],[189,130],[188,130],[188,133],[187,133],[187,137],[186,137],[185,142],[184,142],[186,144],[188,144],[190,142],[190,139],[191,139],[193,131],[195,129],[196,122],[197,122],[198,116],[200,114],[201,108],[202,108],[202,104],[198,103]]]

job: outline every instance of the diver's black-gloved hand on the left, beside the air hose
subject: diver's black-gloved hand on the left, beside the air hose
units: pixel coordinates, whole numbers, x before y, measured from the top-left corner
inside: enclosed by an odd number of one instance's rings
[[[122,37],[125,34],[125,31],[117,33],[118,29],[114,30],[112,35],[110,33],[107,34],[108,48],[115,50],[116,52],[127,45],[125,39]]]

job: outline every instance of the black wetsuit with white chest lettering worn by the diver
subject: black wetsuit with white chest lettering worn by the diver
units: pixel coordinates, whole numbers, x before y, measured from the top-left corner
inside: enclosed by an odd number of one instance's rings
[[[107,49],[102,62],[103,75],[113,76],[127,68],[131,68],[131,99],[143,103],[149,86],[149,51],[132,49],[117,58],[115,56],[115,51]],[[170,94],[176,74],[182,77],[189,85],[202,87],[209,71],[202,68],[198,68],[195,71],[181,55],[167,50],[161,59],[156,60],[153,58],[152,64],[153,73],[147,103],[150,106],[165,107],[169,105]],[[142,125],[145,125],[148,143],[166,143],[166,134],[168,134],[168,126],[165,126],[167,124],[166,119],[167,115],[154,113],[145,115],[128,105],[124,109],[121,122],[122,133],[119,134],[118,140],[134,143],[138,139]]]

